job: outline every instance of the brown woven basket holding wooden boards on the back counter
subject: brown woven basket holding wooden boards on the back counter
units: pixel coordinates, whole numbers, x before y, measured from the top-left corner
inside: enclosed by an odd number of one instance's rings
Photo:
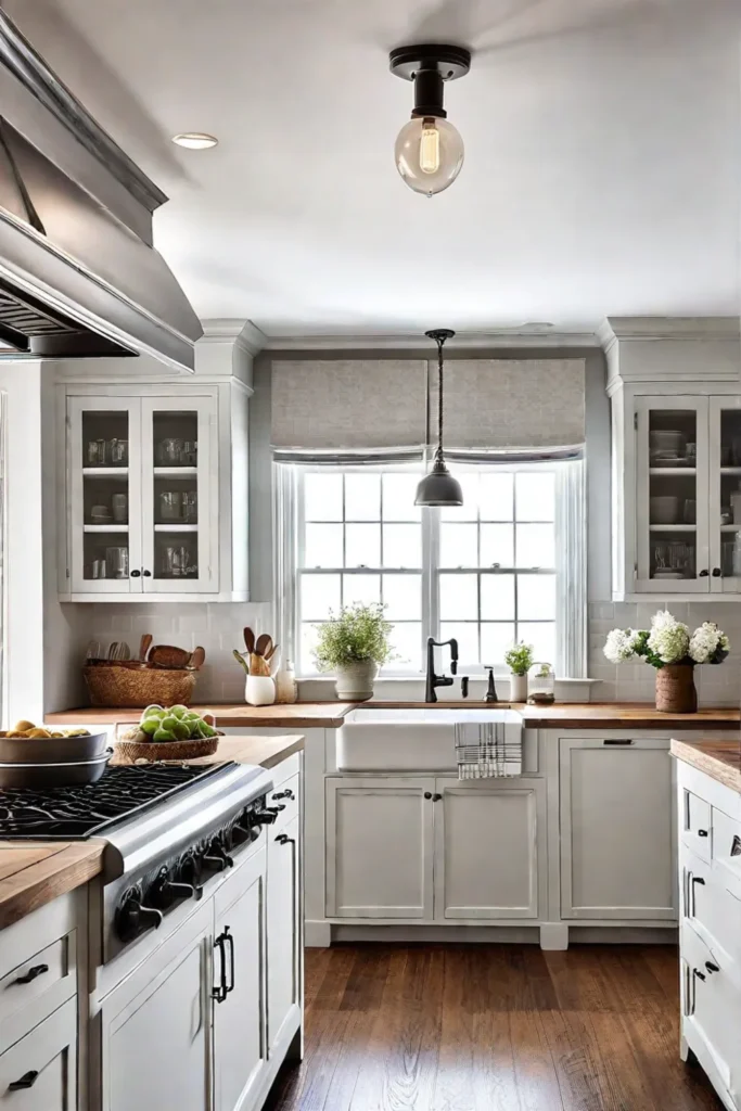
[[[82,669],[92,705],[120,705],[143,710],[160,705],[190,705],[196,687],[194,671],[163,668],[130,668],[99,663]]]

